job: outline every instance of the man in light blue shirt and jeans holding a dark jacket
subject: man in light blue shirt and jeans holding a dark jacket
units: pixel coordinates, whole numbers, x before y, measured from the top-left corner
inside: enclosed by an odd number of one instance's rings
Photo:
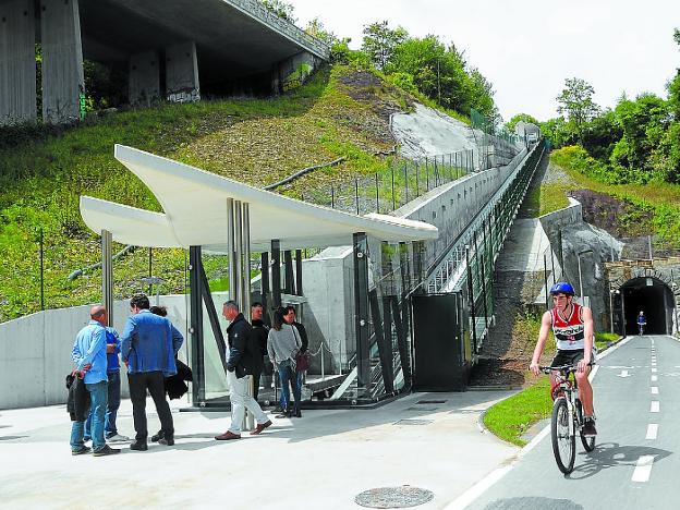
[[[95,305],[89,311],[90,321],[75,337],[71,360],[75,363],[74,374],[85,382],[89,393],[93,414],[92,437],[95,457],[120,453],[110,448],[104,439],[104,420],[107,406],[107,341],[105,326],[108,313],[102,305]],[[73,422],[71,427],[71,453],[80,456],[90,449],[83,442],[85,422]]]

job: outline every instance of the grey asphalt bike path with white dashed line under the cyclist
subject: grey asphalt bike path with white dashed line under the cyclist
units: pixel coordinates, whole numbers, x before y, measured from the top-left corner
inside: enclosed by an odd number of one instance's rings
[[[598,362],[593,379],[596,447],[587,453],[576,439],[576,459],[570,475],[558,470],[548,433],[474,501],[466,506],[454,502],[448,508],[679,508],[679,382],[677,340],[661,336],[630,338]],[[483,481],[479,486],[484,485]]]

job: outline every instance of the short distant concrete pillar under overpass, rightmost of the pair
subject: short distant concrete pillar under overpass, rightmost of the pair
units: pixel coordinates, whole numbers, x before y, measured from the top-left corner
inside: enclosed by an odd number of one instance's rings
[[[166,97],[174,102],[201,100],[198,60],[193,40],[166,48]]]

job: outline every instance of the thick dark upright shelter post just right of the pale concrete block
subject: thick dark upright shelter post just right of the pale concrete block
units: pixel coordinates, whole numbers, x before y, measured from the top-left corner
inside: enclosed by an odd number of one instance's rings
[[[354,331],[356,335],[356,371],[360,394],[371,384],[368,331],[368,240],[364,232],[353,235],[354,246]]]

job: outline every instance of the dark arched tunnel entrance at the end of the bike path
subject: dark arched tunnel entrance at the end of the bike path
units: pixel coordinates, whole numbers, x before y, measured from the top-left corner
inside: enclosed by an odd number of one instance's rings
[[[620,288],[626,335],[638,335],[638,314],[647,318],[645,335],[671,335],[676,300],[670,288],[654,277],[639,277]]]

